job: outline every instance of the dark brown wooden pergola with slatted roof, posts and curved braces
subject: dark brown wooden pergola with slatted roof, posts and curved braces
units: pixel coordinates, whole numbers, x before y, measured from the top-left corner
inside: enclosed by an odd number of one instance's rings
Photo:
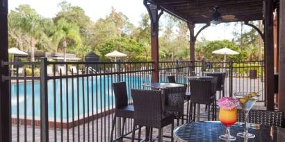
[[[236,21],[263,20],[264,31],[259,31],[265,45],[266,100],[267,109],[274,109],[273,68],[273,11],[277,11],[277,48],[279,49],[279,111],[285,113],[285,1],[284,0],[144,0],[151,19],[152,60],[154,61],[153,82],[158,82],[158,21],[163,11],[187,22],[190,30],[190,60],[194,61],[195,39],[210,26],[214,6],[220,6],[221,15],[234,15]],[[279,24],[281,23],[281,24]],[[194,35],[195,24],[206,24]],[[255,29],[258,29],[252,26]],[[0,142],[10,141],[10,98],[8,76],[8,0],[0,0]],[[47,125],[42,125],[47,127]],[[48,130],[48,129],[44,129]],[[48,136],[42,136],[48,141]]]

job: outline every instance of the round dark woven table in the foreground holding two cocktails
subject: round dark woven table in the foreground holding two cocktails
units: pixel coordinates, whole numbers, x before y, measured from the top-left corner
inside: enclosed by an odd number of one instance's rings
[[[236,136],[238,132],[244,131],[244,123],[236,123],[231,126],[230,133]],[[281,127],[269,127],[258,124],[249,124],[248,131],[255,134],[255,138],[247,141],[285,141],[285,129]],[[222,141],[219,136],[225,134],[225,126],[220,121],[206,121],[180,125],[174,129],[174,139],[178,142],[184,141]],[[246,141],[236,136],[236,141]]]

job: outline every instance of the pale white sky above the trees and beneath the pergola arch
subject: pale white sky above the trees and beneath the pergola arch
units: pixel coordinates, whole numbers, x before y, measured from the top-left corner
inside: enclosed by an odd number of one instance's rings
[[[34,8],[43,17],[55,17],[56,13],[60,11],[58,3],[62,0],[8,0],[9,10],[15,10],[17,6],[21,4],[29,4],[31,8]],[[99,18],[104,18],[111,12],[113,6],[117,12],[122,12],[129,17],[132,24],[138,26],[140,21],[140,15],[147,13],[147,9],[143,5],[142,0],[66,0],[71,3],[72,6],[79,6],[85,10],[92,21],[97,21]],[[163,18],[163,17],[162,17]],[[161,19],[163,20],[163,19]],[[195,32],[199,30],[201,26],[196,26]],[[219,24],[217,26],[210,26],[200,33],[198,39],[205,37],[207,40],[221,40],[233,38],[232,32],[234,30],[233,24],[225,26],[225,24]]]

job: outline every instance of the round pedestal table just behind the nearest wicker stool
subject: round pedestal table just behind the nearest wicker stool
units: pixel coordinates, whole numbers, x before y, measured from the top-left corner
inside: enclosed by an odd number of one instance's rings
[[[164,112],[164,107],[165,107],[165,90],[164,89],[184,87],[184,85],[182,85],[182,84],[167,83],[167,82],[144,83],[144,84],[142,84],[142,86],[151,87],[152,89],[160,89],[161,90],[161,104],[162,104],[163,112]],[[146,138],[146,139],[148,140],[148,138]],[[163,141],[163,129],[161,129],[161,141]]]

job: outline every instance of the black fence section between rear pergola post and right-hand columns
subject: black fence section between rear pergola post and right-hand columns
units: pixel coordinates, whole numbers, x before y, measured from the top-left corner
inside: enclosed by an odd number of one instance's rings
[[[206,72],[226,72],[225,95],[235,92],[259,92],[258,101],[265,101],[264,62],[195,62],[195,72],[204,76]]]

